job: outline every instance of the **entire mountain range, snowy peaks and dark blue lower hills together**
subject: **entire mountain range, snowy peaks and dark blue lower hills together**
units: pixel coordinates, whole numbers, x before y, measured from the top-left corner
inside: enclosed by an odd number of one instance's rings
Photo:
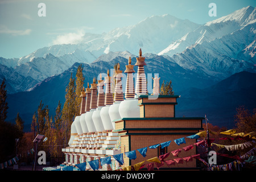
[[[54,114],[58,101],[64,104],[65,86],[79,64],[83,67],[85,83],[92,82],[99,73],[113,69],[115,63],[120,63],[124,71],[129,56],[135,64],[139,48],[146,57],[145,72],[158,73],[160,81],[172,80],[175,94],[181,94],[180,102],[185,106],[177,106],[177,110],[185,113],[184,110],[191,108],[191,114],[197,114],[194,112],[200,108],[195,107],[197,103],[203,105],[201,109],[214,111],[209,108],[217,105],[209,102],[206,107],[201,98],[209,99],[208,93],[209,96],[218,93],[218,84],[236,74],[241,79],[252,80],[254,75],[246,77],[242,73],[256,73],[255,14],[256,9],[247,6],[205,24],[171,15],[151,16],[134,26],[115,28],[108,33],[86,33],[78,44],[40,48],[19,59],[0,57],[0,81],[6,78],[9,93],[8,119],[13,121],[19,111],[30,123],[40,100]],[[222,86],[224,90],[229,89],[228,85]],[[230,92],[237,91],[231,88]],[[249,89],[245,85],[241,88]],[[249,105],[251,109],[253,106]]]

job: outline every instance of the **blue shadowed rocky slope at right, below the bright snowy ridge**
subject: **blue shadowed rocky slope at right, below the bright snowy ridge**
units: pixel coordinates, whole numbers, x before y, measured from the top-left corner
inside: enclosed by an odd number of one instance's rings
[[[225,78],[241,71],[256,72],[256,23],[177,53],[171,60],[185,69]]]

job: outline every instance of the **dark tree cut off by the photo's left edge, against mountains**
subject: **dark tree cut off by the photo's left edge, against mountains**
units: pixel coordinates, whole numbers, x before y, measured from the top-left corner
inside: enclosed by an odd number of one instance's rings
[[[5,81],[5,78],[3,78],[2,84],[0,85],[0,122],[5,121],[7,117],[7,109],[9,108],[6,101],[7,90]]]

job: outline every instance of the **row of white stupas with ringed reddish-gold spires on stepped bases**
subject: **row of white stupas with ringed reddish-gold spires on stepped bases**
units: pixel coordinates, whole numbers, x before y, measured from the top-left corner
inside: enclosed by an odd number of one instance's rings
[[[104,86],[103,81],[101,82],[101,79],[98,80],[98,100],[95,100],[95,81],[93,81],[93,84],[91,84],[92,86],[90,90],[92,91],[92,93],[88,92],[88,84],[86,92],[89,93],[89,95],[87,94],[86,96],[86,102],[88,102],[87,100],[90,101],[91,108],[89,111],[86,111],[85,113],[82,113],[81,115],[75,117],[75,121],[71,125],[71,138],[69,139],[68,143],[70,147],[63,148],[64,152],[82,152],[106,155],[114,155],[118,153],[118,151],[113,152],[113,150],[106,150],[108,148],[113,149],[119,139],[118,132],[114,132],[115,123],[113,121],[121,118],[139,118],[140,114],[138,106],[138,95],[147,94],[146,76],[144,73],[144,65],[146,65],[146,63],[144,62],[144,57],[142,57],[141,49],[139,50],[139,57],[137,57],[136,59],[137,63],[135,65],[138,65],[138,72],[135,90],[133,82],[133,73],[135,71],[133,69],[134,65],[131,65],[130,58],[128,61],[129,65],[126,65],[125,73],[127,73],[127,82],[125,100],[123,99],[121,82],[122,74],[119,74],[122,73],[122,71],[119,70],[119,64],[114,76],[116,81],[114,99],[110,89],[109,71],[108,77],[105,77],[104,82],[106,84],[105,94],[102,92],[102,88]],[[102,100],[102,93],[105,96],[105,106],[96,106],[96,108],[95,103]],[[109,102],[107,100],[109,98],[111,100],[110,96],[112,97],[113,101]],[[85,101],[83,100],[82,102],[85,103]],[[92,108],[92,103],[94,103],[94,108]],[[84,105],[85,104],[81,103],[81,109]],[[77,148],[80,148],[80,150]],[[96,148],[100,150],[93,150]]]

